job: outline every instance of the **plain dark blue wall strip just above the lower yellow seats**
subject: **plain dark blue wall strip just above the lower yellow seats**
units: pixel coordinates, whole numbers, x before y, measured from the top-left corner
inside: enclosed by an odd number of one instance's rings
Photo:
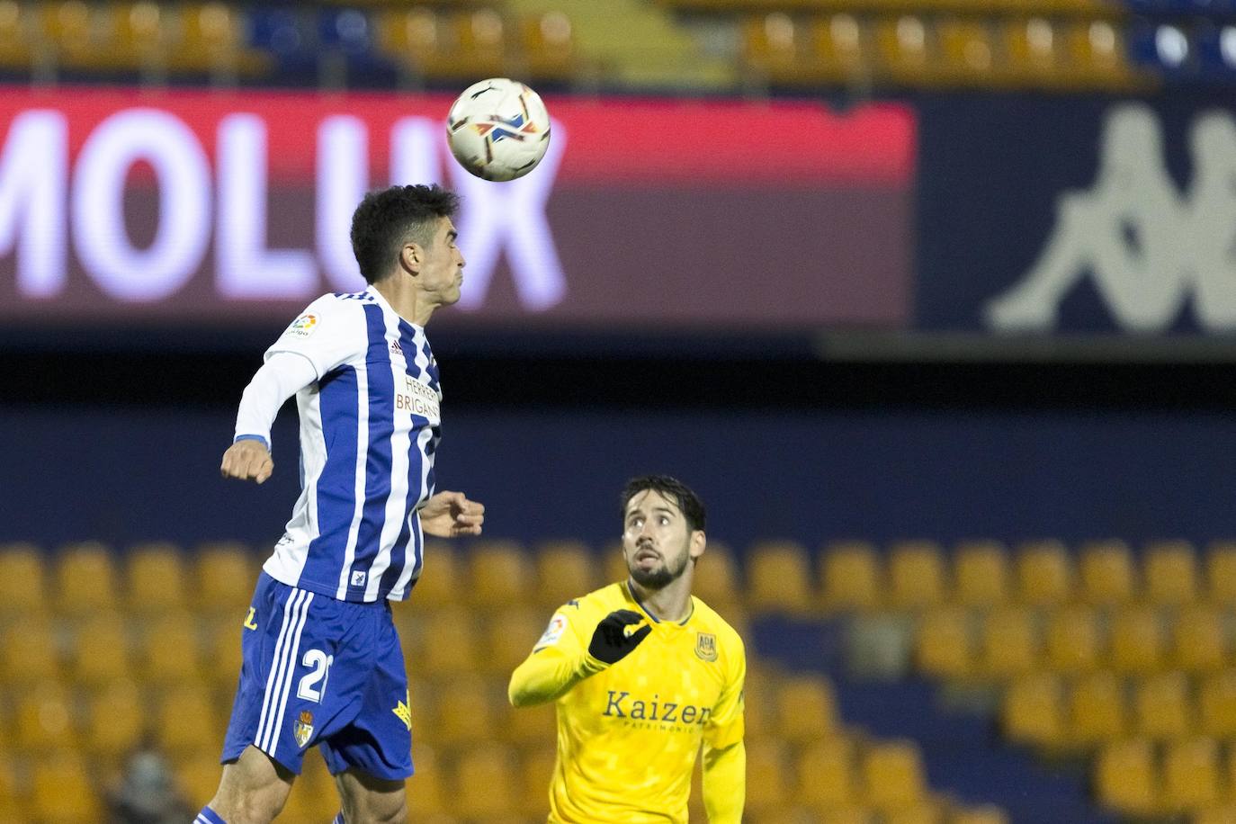
[[[262,487],[218,476],[230,413],[0,408],[0,540],[272,542],[297,494],[294,413]],[[714,540],[863,536],[1130,541],[1236,536],[1236,426],[1201,413],[446,410],[440,488],[488,532],[616,536],[616,490],[695,486]]]

